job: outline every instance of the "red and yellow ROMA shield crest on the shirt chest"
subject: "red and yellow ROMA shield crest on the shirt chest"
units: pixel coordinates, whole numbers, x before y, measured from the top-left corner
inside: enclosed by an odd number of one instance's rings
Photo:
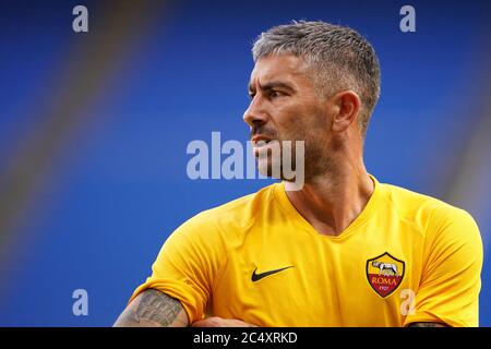
[[[370,286],[383,298],[394,292],[404,278],[405,263],[388,252],[367,261]]]

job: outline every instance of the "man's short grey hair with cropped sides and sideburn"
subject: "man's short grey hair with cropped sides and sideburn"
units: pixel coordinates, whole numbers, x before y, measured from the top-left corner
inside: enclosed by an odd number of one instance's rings
[[[355,91],[361,99],[358,124],[366,137],[380,96],[380,64],[375,50],[356,31],[321,21],[292,21],[262,33],[252,47],[254,62],[268,55],[304,59],[322,94]]]

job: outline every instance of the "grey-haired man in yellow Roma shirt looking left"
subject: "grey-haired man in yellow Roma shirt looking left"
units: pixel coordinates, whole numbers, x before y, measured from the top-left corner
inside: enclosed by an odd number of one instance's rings
[[[304,141],[304,185],[284,180],[184,222],[116,325],[477,326],[474,219],[366,170],[371,45],[294,22],[263,33],[253,58],[244,121],[258,166],[271,172],[273,144]]]

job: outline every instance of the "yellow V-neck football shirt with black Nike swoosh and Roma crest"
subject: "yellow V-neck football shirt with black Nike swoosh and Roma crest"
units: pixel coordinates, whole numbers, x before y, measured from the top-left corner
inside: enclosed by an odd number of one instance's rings
[[[465,210],[382,184],[338,237],[275,183],[202,212],[165,242],[147,288],[259,326],[478,326],[482,243]]]

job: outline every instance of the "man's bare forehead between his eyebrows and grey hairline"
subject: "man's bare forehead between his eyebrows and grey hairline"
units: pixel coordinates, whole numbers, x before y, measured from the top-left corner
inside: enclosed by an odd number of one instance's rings
[[[294,55],[270,55],[255,62],[250,85],[283,81],[294,85],[309,84],[309,64]]]

